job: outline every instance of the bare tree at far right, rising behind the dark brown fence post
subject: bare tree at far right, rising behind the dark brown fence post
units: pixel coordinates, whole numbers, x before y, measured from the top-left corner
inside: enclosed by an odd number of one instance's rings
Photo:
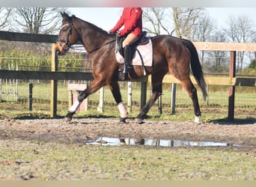
[[[252,42],[255,36],[253,22],[248,16],[229,16],[227,27],[223,28],[226,37],[231,42],[248,43]],[[243,70],[243,61],[246,52],[237,52],[237,72]]]

